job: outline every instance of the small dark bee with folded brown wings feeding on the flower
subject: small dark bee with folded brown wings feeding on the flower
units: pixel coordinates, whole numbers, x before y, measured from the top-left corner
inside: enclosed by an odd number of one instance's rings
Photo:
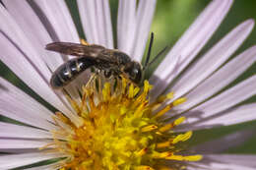
[[[152,33],[147,61],[150,57],[153,37]],[[140,63],[131,60],[127,54],[117,49],[107,49],[96,44],[84,45],[71,42],[52,42],[45,48],[77,57],[62,64],[53,72],[50,80],[52,88],[61,88],[70,84],[81,73],[92,67],[103,73],[105,78],[123,76],[135,85],[139,85],[143,80],[143,72],[146,67],[143,68]]]

